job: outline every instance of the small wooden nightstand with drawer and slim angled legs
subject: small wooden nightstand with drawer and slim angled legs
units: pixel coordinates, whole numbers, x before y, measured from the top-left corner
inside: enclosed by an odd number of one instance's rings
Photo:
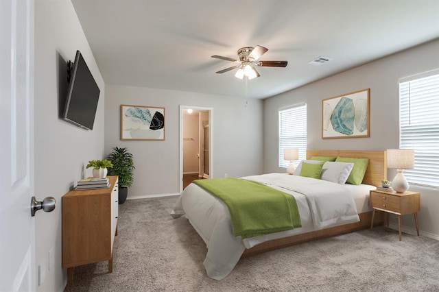
[[[418,232],[419,236],[418,211],[420,209],[420,193],[410,191],[405,191],[404,193],[370,191],[369,203],[373,208],[370,230],[373,227],[375,210],[385,212],[385,222],[387,222],[387,225],[389,225],[388,213],[398,215],[399,241],[401,241],[401,215],[413,214],[416,232]]]

